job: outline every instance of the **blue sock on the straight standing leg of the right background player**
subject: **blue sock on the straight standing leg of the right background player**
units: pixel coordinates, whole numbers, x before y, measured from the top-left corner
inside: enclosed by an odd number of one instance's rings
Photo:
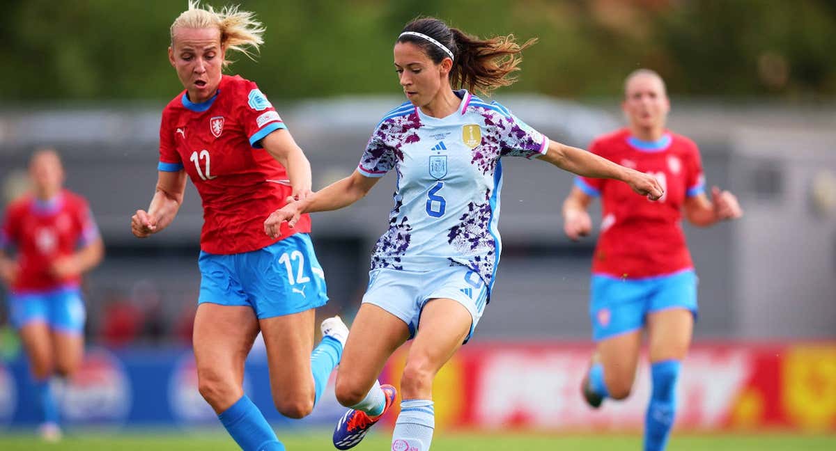
[[[676,414],[676,379],[681,363],[663,360],[650,366],[653,394],[645,417],[645,451],[662,451],[668,443]]]

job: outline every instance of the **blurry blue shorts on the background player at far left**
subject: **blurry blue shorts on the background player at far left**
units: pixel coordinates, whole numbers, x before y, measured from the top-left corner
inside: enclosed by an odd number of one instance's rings
[[[87,311],[78,286],[13,293],[8,307],[12,325],[17,329],[32,322],[44,322],[55,331],[84,332]]]

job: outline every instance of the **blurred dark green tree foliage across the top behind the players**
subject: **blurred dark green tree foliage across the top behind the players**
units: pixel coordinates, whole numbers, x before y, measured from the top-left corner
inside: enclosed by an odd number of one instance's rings
[[[212,0],[218,7],[226,2]],[[242,0],[267,25],[256,62],[229,70],[273,99],[400,92],[391,48],[431,15],[480,36],[538,37],[508,90],[614,96],[655,68],[676,94],[836,94],[833,0]],[[169,26],[186,0],[5,0],[0,100],[171,99]]]

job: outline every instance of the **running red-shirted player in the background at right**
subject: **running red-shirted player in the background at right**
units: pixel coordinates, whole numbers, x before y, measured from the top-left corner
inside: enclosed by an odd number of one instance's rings
[[[650,337],[653,393],[645,418],[645,450],[665,448],[675,416],[675,384],[691,343],[696,315],[696,274],[680,226],[682,211],[696,226],[742,215],[737,198],[717,187],[704,192],[700,153],[690,139],[665,129],[670,101],[665,83],[648,69],[624,82],[630,125],[596,139],[590,151],[655,175],[665,195],[650,201],[605,179],[576,179],[563,202],[564,231],[589,234],[587,207],[601,196],[604,218],[592,265],[589,314],[597,350],[584,397],[597,408],[604,398],[630,394],[641,332]]]

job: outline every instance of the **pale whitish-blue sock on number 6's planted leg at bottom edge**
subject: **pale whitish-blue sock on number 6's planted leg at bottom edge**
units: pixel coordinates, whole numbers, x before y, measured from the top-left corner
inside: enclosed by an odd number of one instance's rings
[[[436,410],[429,399],[407,399],[392,432],[393,451],[427,451],[436,428]]]

